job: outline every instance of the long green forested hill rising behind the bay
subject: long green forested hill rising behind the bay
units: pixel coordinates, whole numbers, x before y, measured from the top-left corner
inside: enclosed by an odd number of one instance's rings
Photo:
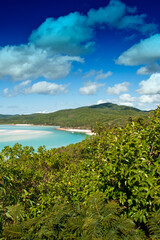
[[[61,127],[93,128],[99,122],[106,126],[124,125],[130,118],[147,120],[148,112],[137,108],[103,103],[53,113],[30,115],[0,115],[0,123],[46,124]]]

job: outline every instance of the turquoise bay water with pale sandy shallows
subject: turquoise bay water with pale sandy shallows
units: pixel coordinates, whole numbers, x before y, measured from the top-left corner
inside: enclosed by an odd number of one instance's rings
[[[39,146],[46,149],[67,146],[86,138],[86,134],[72,133],[56,130],[52,126],[22,126],[0,125],[0,150],[4,146],[12,147],[15,143],[22,146],[33,146],[35,150]]]

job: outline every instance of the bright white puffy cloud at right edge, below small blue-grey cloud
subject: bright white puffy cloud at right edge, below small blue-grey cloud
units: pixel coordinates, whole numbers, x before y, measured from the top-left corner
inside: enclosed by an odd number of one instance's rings
[[[148,80],[139,83],[140,88],[137,90],[139,94],[155,95],[160,94],[160,73],[154,73]]]

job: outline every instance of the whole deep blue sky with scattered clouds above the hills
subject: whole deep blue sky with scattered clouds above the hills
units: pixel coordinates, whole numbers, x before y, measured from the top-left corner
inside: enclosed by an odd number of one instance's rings
[[[160,104],[158,0],[5,0],[0,114]]]

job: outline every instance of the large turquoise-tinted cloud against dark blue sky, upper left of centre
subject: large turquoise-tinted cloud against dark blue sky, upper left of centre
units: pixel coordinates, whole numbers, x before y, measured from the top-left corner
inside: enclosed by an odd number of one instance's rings
[[[79,12],[64,17],[47,18],[34,30],[29,40],[41,48],[58,53],[81,54],[90,52],[94,43],[93,28],[87,24],[87,17]]]

